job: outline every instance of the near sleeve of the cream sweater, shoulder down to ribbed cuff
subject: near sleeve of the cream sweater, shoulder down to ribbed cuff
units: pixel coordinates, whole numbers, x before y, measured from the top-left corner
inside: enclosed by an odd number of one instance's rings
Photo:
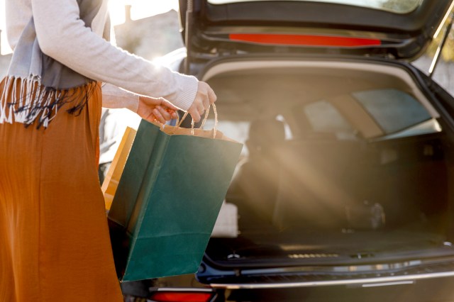
[[[195,77],[111,45],[85,26],[77,0],[32,0],[32,11],[41,50],[75,72],[135,94],[163,97],[183,110],[194,101]]]

